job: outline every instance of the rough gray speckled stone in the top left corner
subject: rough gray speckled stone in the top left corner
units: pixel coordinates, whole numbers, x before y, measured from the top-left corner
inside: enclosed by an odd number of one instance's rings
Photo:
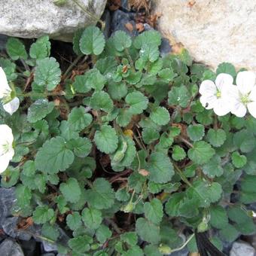
[[[81,4],[100,17],[106,0],[80,0]],[[62,7],[53,0],[0,0],[0,33],[20,38],[51,38],[71,41],[76,29],[96,23],[69,0]]]

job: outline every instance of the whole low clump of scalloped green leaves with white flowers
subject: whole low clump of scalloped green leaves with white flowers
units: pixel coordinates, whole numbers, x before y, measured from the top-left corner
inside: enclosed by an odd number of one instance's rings
[[[184,49],[161,57],[160,44],[155,31],[105,40],[90,26],[61,70],[47,36],[29,52],[8,40],[1,186],[15,186],[14,215],[32,216],[61,254],[197,251],[206,230],[221,250],[221,239],[255,233],[253,73],[212,72]]]

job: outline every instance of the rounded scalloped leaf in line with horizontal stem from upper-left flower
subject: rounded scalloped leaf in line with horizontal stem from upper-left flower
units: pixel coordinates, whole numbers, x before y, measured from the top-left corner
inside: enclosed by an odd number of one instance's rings
[[[114,104],[108,93],[100,91],[93,93],[93,96],[90,98],[90,107],[94,110],[111,112],[114,108]]]

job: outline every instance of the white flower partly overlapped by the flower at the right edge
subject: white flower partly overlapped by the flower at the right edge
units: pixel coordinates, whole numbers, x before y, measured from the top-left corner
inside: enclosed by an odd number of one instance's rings
[[[233,85],[231,75],[221,73],[217,76],[215,83],[205,80],[200,85],[200,102],[206,109],[213,109],[215,114],[222,116],[231,111],[230,104],[227,104],[227,91]]]

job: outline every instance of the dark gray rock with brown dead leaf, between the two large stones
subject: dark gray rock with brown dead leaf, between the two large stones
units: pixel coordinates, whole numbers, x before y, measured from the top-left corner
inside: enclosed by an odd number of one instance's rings
[[[111,23],[111,32],[116,32],[117,30],[122,30],[131,36],[139,35],[136,29],[136,23],[134,21],[134,15],[132,13],[126,13],[120,10],[114,12]],[[133,31],[126,28],[126,23],[131,23],[133,25]]]

